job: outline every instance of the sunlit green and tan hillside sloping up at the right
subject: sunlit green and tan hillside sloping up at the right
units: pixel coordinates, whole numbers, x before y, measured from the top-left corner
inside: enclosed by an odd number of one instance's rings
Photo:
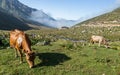
[[[120,7],[111,12],[78,23],[78,25],[120,25]]]

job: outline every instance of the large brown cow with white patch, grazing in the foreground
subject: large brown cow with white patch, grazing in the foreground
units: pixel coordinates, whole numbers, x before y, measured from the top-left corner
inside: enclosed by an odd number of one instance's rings
[[[27,34],[15,29],[10,32],[10,46],[15,48],[15,56],[20,54],[20,63],[23,62],[23,52],[26,55],[26,61],[30,68],[34,67],[35,53],[31,50],[31,42]]]

